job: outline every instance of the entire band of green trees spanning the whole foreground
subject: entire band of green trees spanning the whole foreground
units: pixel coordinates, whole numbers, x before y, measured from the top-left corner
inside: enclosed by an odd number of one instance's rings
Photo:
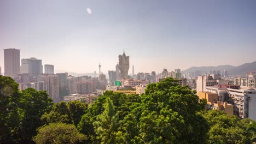
[[[106,91],[87,106],[53,104],[45,91],[19,91],[0,76],[0,143],[33,143],[32,137],[37,143],[255,142],[255,121],[205,111],[205,104],[171,78],[142,95]]]

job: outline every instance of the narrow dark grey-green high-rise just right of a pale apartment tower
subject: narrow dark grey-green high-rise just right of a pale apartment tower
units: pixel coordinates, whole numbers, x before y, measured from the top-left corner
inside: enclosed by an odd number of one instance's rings
[[[68,73],[57,73],[60,81],[60,97],[68,95],[67,77]]]

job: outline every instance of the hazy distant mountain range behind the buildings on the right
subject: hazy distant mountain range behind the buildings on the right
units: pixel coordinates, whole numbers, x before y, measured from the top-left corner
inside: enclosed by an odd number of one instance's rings
[[[200,71],[210,71],[210,70],[227,70],[228,75],[246,75],[249,70],[256,71],[256,61],[252,63],[245,63],[237,67],[232,65],[218,65],[217,67],[191,67],[189,69],[183,70],[182,73],[193,72],[195,70]]]

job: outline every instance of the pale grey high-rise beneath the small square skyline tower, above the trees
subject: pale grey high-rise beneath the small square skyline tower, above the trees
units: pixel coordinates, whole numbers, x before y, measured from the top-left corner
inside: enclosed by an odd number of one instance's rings
[[[61,101],[60,97],[60,80],[57,75],[45,76],[45,82],[48,83],[48,94],[53,99],[54,103]]]

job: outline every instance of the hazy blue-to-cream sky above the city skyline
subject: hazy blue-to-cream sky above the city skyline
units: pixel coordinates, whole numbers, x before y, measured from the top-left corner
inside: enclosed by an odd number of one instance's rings
[[[130,73],[240,65],[256,61],[256,1],[0,0],[2,67],[8,48],[77,73],[115,70],[123,49]]]

